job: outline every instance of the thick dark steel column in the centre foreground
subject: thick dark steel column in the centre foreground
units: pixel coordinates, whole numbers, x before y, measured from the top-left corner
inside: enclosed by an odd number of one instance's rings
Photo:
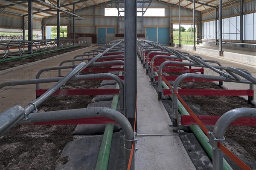
[[[125,0],[125,115],[134,127],[137,96],[137,2]]]

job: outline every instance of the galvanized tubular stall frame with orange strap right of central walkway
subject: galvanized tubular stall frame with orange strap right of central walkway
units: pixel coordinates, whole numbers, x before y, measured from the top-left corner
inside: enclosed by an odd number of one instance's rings
[[[145,48],[143,48],[145,47]],[[144,41],[139,41],[138,45],[138,54],[147,56],[147,61],[151,64],[151,71],[154,69],[154,73],[151,72],[151,74],[154,74],[155,76],[158,76],[158,80],[154,81],[152,79],[151,75],[151,82],[152,83],[158,83],[158,91],[162,91],[162,86],[164,89],[171,91],[172,93],[169,93],[169,97],[172,99],[172,129],[174,132],[178,132],[180,128],[180,115],[179,112],[182,115],[189,115],[191,114],[194,118],[196,124],[190,124],[189,127],[192,130],[192,132],[195,134],[195,136],[200,139],[199,142],[202,144],[204,149],[207,151],[208,155],[213,160],[213,169],[221,170],[221,169],[231,169],[230,165],[227,164],[227,161],[223,158],[223,153],[228,154],[228,156],[236,162],[240,167],[243,169],[250,169],[246,164],[244,164],[243,161],[241,161],[238,157],[236,157],[234,154],[232,154],[230,151],[227,150],[223,145],[221,145],[221,141],[223,140],[224,132],[227,128],[227,126],[234,120],[241,118],[241,117],[250,117],[255,118],[256,117],[256,109],[255,108],[238,108],[231,110],[228,114],[224,114],[219,118],[215,125],[215,129],[213,133],[210,133],[207,128],[202,124],[201,120],[195,115],[194,112],[187,106],[186,102],[183,101],[183,99],[180,97],[182,95],[182,89],[178,89],[178,84],[185,80],[186,78],[192,78],[194,79],[204,79],[204,80],[214,80],[214,81],[227,81],[227,82],[236,82],[236,83],[243,83],[243,84],[250,84],[250,90],[253,91],[253,85],[256,84],[256,78],[254,78],[251,73],[245,69],[236,69],[232,67],[223,67],[220,63],[216,61],[208,61],[208,60],[202,60],[198,56],[193,56],[189,54],[181,54],[180,52],[177,52],[176,50],[167,50],[166,47],[162,47],[166,50],[158,50],[152,51],[152,49],[156,49],[154,45],[151,43],[147,43]],[[148,52],[146,52],[149,49]],[[166,51],[169,51],[167,53]],[[159,54],[158,54],[159,53]],[[172,53],[172,56],[170,55]],[[154,66],[154,60],[153,58],[151,61],[149,61],[148,57],[149,55],[152,55],[151,57],[154,58],[167,58],[167,59],[182,59],[187,60],[189,62],[183,62],[183,61],[164,61],[161,63],[160,67],[157,69],[156,66]],[[163,54],[163,55],[162,55]],[[166,54],[166,55],[165,55]],[[139,56],[140,60],[142,60],[142,57]],[[219,66],[210,65],[209,63],[217,63]],[[166,80],[165,76],[162,74],[163,66],[172,63],[175,65],[183,65],[183,66],[197,66],[197,67],[207,67],[211,69],[214,72],[217,72],[220,74],[220,76],[209,76],[209,75],[202,75],[202,74],[193,74],[193,73],[185,73],[180,76],[178,76],[176,79],[172,80],[174,81],[173,85],[171,86],[169,82]],[[226,72],[224,72],[225,70]],[[241,76],[241,77],[240,77]],[[154,77],[153,77],[154,78]],[[163,78],[163,81],[162,81]],[[154,82],[153,82],[154,81]],[[188,80],[192,81],[192,80]],[[180,92],[180,93],[179,93]],[[172,95],[171,95],[172,94]],[[253,93],[251,93],[253,94]],[[195,94],[194,94],[195,95]],[[198,94],[196,94],[198,95]],[[211,94],[212,95],[212,94]],[[237,94],[239,95],[239,94]],[[162,96],[162,92],[159,92],[158,96]],[[179,99],[179,100],[178,100]],[[252,98],[248,98],[250,101]],[[179,112],[178,112],[179,111]],[[181,117],[182,118],[182,117]],[[252,120],[251,120],[252,121]],[[253,119],[253,121],[255,121]],[[224,126],[223,126],[224,125]],[[238,125],[238,124],[237,124]],[[243,125],[247,125],[245,122]],[[253,124],[256,125],[256,124]],[[200,127],[199,127],[200,126]],[[206,135],[204,135],[206,134]],[[209,136],[212,141],[209,141],[207,138]],[[213,137],[213,138],[212,138]],[[212,143],[210,145],[209,143]]]

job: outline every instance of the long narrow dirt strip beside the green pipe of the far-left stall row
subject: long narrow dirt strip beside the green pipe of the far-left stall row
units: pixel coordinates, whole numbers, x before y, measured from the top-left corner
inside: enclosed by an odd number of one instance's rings
[[[70,48],[70,49],[63,49],[63,50],[60,50],[60,51],[57,51],[57,52],[51,52],[51,53],[47,53],[47,54],[36,55],[36,56],[33,56],[33,57],[28,57],[28,58],[21,58],[21,59],[15,60],[15,61],[6,61],[6,62],[3,62],[3,63],[0,63],[0,70],[9,69],[9,68],[20,66],[20,65],[23,65],[23,64],[27,64],[27,63],[32,63],[32,62],[35,62],[35,61],[43,60],[45,58],[53,57],[53,56],[56,56],[56,55],[67,53],[67,52],[72,52],[72,51],[75,51],[77,49],[82,49],[82,48],[84,48],[84,47],[83,46],[78,46],[78,47],[73,47],[73,48]]]

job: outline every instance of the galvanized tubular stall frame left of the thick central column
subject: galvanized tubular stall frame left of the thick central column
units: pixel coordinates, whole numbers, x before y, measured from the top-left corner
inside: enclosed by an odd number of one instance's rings
[[[124,95],[125,95],[125,88],[123,85],[123,82],[121,79],[113,74],[94,74],[94,75],[78,75],[79,72],[83,71],[87,66],[89,65],[102,65],[102,64],[124,64],[124,61],[105,61],[105,62],[95,62],[97,59],[101,58],[103,55],[107,54],[107,52],[113,50],[113,48],[120,43],[122,43],[123,40],[120,40],[119,42],[113,44],[112,46],[107,46],[107,48],[101,48],[98,55],[96,55],[93,58],[90,58],[90,60],[87,63],[80,63],[79,65],[71,65],[71,66],[59,66],[59,67],[52,67],[52,68],[45,68],[42,69],[40,72],[38,72],[36,78],[39,78],[41,73],[44,71],[49,71],[49,70],[60,70],[60,69],[66,69],[66,68],[73,68],[72,71],[70,71],[66,76],[64,77],[58,77],[58,78],[43,78],[43,79],[35,79],[35,80],[26,80],[26,81],[13,81],[13,82],[5,82],[0,84],[0,88],[4,86],[10,86],[12,84],[19,84],[19,85],[24,85],[24,84],[37,84],[36,88],[39,88],[38,83],[47,83],[47,82],[57,82],[54,86],[52,86],[50,89],[46,90],[44,94],[41,96],[38,96],[38,98],[30,103],[26,108],[22,108],[20,106],[15,106],[12,107],[5,112],[0,114],[0,135],[3,135],[6,133],[7,130],[9,130],[11,127],[13,127],[15,124],[36,124],[37,122],[43,122],[44,124],[47,124],[47,122],[52,121],[60,121],[60,120],[70,120],[70,119],[84,119],[84,118],[94,118],[94,117],[106,117],[110,118],[113,121],[116,121],[118,124],[121,125],[122,130],[125,133],[124,139],[125,139],[125,165],[126,167],[128,166],[129,162],[129,156],[131,153],[131,147],[132,147],[132,142],[134,141],[134,133],[133,129],[131,127],[131,123],[128,121],[122,113],[116,111],[117,107],[117,102],[118,99],[120,99],[120,109],[125,109],[124,108]],[[92,53],[94,53],[97,50],[92,50]],[[117,49],[117,53],[119,52],[119,49]],[[112,55],[113,56],[113,55]],[[108,57],[108,56],[107,56]],[[111,56],[110,56],[111,57]],[[122,72],[121,72],[122,73]],[[120,75],[120,73],[119,73]],[[113,103],[113,107],[111,108],[105,108],[105,107],[94,107],[94,108],[86,108],[86,109],[74,109],[74,110],[62,110],[62,111],[55,111],[55,112],[44,112],[44,113],[36,113],[35,115],[32,112],[37,111],[38,105],[43,103],[50,95],[53,95],[54,92],[56,92],[61,86],[63,86],[67,81],[69,80],[84,80],[84,79],[104,79],[104,78],[113,78],[116,80],[116,88],[119,89],[120,95],[114,95],[113,100],[115,102]],[[115,99],[114,99],[115,98]],[[117,101],[116,101],[117,100]],[[114,106],[115,105],[115,106]],[[70,114],[72,113],[72,114]],[[54,114],[55,118],[52,119],[52,114]],[[59,115],[59,117],[58,117]],[[64,116],[65,115],[65,116]],[[83,120],[84,121],[84,120]],[[113,124],[107,124],[106,130],[109,131],[109,133],[113,133]],[[106,131],[105,130],[105,131]],[[107,133],[107,134],[109,134]],[[105,136],[105,134],[104,134]],[[109,137],[108,135],[105,137]],[[104,143],[102,142],[102,147],[100,151],[100,155],[105,155],[106,152],[109,153],[108,150],[103,150],[102,148],[105,148]],[[102,169],[103,164],[105,167],[108,167],[108,164],[105,164],[106,157],[101,157],[99,156],[96,167],[99,169]],[[108,162],[108,161],[107,161]],[[99,164],[98,164],[99,163]],[[132,165],[134,167],[134,165]]]

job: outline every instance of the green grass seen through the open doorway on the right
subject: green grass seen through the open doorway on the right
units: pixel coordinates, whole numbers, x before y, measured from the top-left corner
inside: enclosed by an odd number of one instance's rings
[[[193,38],[191,32],[180,32],[180,44],[193,45]],[[173,31],[173,43],[179,43],[179,31]]]

